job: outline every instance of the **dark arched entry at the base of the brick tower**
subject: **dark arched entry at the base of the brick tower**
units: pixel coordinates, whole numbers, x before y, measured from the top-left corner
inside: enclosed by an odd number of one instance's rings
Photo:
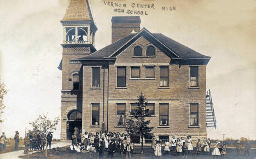
[[[74,133],[74,128],[82,129],[82,113],[78,110],[69,111],[67,121],[67,139],[71,140],[71,136]]]

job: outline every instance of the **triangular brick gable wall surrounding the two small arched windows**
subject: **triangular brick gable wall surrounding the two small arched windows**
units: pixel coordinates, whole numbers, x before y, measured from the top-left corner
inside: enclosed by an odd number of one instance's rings
[[[133,55],[134,48],[139,47],[142,49],[141,56]],[[153,47],[155,55],[147,56],[147,48]],[[134,43],[128,46],[123,52],[115,56],[115,63],[169,63],[171,58],[162,52],[158,46],[149,42],[147,38],[141,36]]]

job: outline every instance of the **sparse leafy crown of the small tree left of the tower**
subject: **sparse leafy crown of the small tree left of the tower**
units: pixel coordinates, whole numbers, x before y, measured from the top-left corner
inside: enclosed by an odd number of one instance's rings
[[[47,115],[48,113],[44,115],[39,115],[36,121],[30,122],[30,125],[32,125],[33,128],[37,128],[39,131],[42,131],[45,135],[48,132],[56,131],[56,125],[60,121],[59,116],[55,117],[54,120],[51,120],[47,117]]]

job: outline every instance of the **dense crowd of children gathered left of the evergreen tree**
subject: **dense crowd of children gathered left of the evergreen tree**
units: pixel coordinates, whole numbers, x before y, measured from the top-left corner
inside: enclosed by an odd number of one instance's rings
[[[107,157],[113,158],[114,153],[117,152],[119,157],[131,158],[131,151],[133,150],[133,143],[127,134],[120,134],[115,132],[109,133],[92,133],[85,132],[80,143],[75,133],[72,135],[72,151],[89,153],[91,158],[95,158],[98,153],[99,158],[103,158],[105,152]]]

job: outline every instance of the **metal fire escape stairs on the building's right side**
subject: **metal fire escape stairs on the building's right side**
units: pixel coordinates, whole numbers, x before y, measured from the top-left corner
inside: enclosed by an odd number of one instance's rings
[[[216,117],[214,114],[210,89],[206,92],[206,127],[216,128]]]

